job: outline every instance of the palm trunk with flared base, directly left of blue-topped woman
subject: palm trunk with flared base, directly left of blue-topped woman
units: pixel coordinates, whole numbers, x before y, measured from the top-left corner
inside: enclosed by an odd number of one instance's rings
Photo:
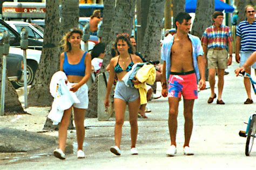
[[[29,106],[45,107],[52,103],[49,84],[59,67],[59,41],[59,4],[58,1],[46,1],[43,50],[28,96]]]

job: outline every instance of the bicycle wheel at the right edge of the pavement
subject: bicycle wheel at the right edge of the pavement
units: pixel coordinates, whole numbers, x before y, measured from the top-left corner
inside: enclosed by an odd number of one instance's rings
[[[250,153],[252,151],[252,145],[253,145],[253,140],[254,140],[254,136],[255,136],[255,119],[256,119],[256,115],[253,115],[250,126],[249,126],[249,130],[248,130],[248,134],[247,134],[247,139],[246,139],[246,145],[245,145],[245,155],[246,156],[250,156]]]

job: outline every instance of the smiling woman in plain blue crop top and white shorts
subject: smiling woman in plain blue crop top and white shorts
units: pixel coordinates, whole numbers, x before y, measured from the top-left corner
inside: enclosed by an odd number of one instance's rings
[[[53,153],[59,159],[65,159],[65,145],[67,130],[70,123],[71,110],[73,108],[76,124],[78,152],[77,158],[84,158],[83,143],[85,137],[84,117],[88,108],[87,80],[91,75],[91,55],[80,49],[83,36],[82,30],[72,29],[64,36],[64,52],[60,54],[60,70],[68,77],[68,87],[76,94],[80,103],[64,111],[62,121],[59,124],[59,148]]]

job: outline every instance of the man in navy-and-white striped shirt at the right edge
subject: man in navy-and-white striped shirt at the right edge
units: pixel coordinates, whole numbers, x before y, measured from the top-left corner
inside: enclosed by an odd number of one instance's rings
[[[235,60],[240,63],[240,67],[256,51],[256,21],[254,19],[255,10],[253,6],[246,6],[245,15],[247,19],[238,24],[237,39],[235,40]],[[252,68],[256,69],[256,63],[252,65]],[[251,74],[251,67],[246,68],[245,72]],[[252,104],[251,83],[248,78],[244,78],[244,85],[247,93],[247,100],[244,104]]]

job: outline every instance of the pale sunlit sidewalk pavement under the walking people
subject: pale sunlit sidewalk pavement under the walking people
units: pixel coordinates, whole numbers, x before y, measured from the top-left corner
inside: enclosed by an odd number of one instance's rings
[[[199,99],[194,104],[194,128],[190,146],[195,155],[183,155],[184,117],[183,100],[179,105],[177,150],[175,157],[166,157],[170,146],[168,130],[167,98],[161,97],[149,102],[152,112],[148,119],[138,119],[139,133],[137,140],[138,155],[130,155],[130,125],[125,122],[121,143],[122,155],[117,157],[110,153],[114,145],[114,119],[97,121],[97,118],[85,119],[86,134],[84,142],[85,159],[76,158],[76,134],[68,132],[68,141],[73,144],[71,153],[62,161],[53,157],[52,153],[37,159],[13,161],[0,160],[1,169],[255,169],[256,146],[251,157],[245,156],[246,138],[239,137],[238,132],[245,130],[243,122],[255,111],[255,103],[244,105],[246,94],[242,77],[235,77],[234,69],[238,64],[233,62],[225,75],[223,101],[225,105],[217,105],[216,100],[207,104],[210,89],[199,92]],[[216,77],[217,79],[217,77]],[[207,84],[208,86],[208,84]],[[158,86],[159,88],[160,86]],[[217,87],[217,84],[215,85]],[[217,88],[215,88],[217,93]],[[160,88],[157,89],[160,93]],[[254,102],[256,102],[254,97]],[[0,128],[11,126],[15,129],[42,131],[46,108],[25,109],[31,115],[6,116],[0,119]],[[56,131],[44,132],[57,137]],[[54,146],[57,147],[57,146]],[[41,153],[41,151],[38,151]],[[16,162],[16,164],[13,164]]]

